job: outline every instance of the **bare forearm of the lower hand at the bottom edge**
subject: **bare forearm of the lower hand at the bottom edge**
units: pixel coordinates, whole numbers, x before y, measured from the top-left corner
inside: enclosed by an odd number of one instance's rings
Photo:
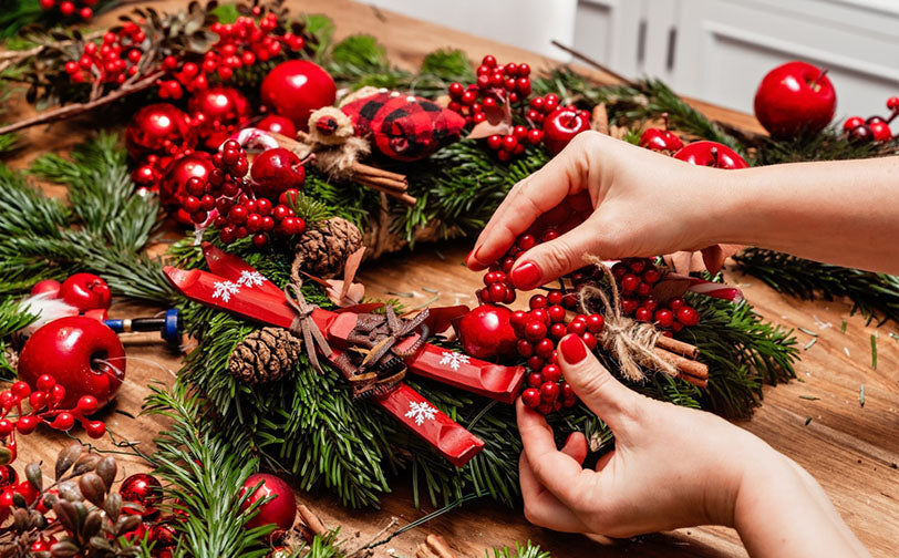
[[[869,556],[807,473],[776,455],[744,475],[734,526],[750,556]]]

